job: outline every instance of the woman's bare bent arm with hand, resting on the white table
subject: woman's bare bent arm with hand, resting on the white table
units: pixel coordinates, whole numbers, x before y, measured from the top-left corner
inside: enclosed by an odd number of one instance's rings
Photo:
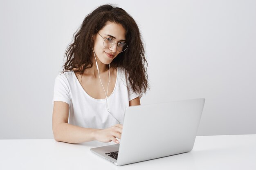
[[[56,141],[67,143],[82,143],[98,140],[119,143],[123,126],[117,124],[107,129],[82,128],[68,124],[69,105],[65,102],[54,102],[52,115],[52,130]]]

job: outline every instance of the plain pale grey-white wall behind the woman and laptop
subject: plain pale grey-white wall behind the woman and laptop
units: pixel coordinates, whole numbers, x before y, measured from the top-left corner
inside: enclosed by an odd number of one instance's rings
[[[204,97],[198,135],[256,133],[256,1],[108,1],[137,21],[151,91]],[[106,1],[0,1],[0,139],[53,138],[54,78],[85,15]]]

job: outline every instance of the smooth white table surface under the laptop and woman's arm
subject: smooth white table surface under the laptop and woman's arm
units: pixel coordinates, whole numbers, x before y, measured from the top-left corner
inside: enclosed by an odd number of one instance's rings
[[[116,166],[90,151],[90,148],[108,144],[112,143],[0,140],[0,169],[256,170],[256,135],[198,136],[191,152],[124,166]]]

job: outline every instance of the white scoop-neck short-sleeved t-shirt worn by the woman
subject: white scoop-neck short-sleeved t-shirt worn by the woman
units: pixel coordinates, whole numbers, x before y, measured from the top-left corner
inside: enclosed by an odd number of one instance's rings
[[[129,101],[142,95],[134,93],[126,80],[124,69],[117,69],[117,79],[112,94],[108,97],[108,108],[111,114],[123,124],[124,112]],[[69,104],[69,123],[84,128],[108,128],[118,121],[106,108],[106,99],[94,99],[86,93],[74,71],[60,73],[54,84],[54,101]]]

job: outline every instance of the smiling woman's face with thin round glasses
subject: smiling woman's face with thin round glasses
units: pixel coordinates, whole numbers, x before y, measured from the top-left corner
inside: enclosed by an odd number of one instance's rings
[[[114,46],[107,48],[103,45],[104,40],[106,38],[111,38],[115,42],[125,42],[125,33],[126,30],[121,24],[107,22],[106,26],[104,26],[96,35],[94,35],[93,50],[99,59],[99,61],[97,61],[98,63],[101,62],[103,64],[110,64],[112,60],[114,60],[115,57],[121,53],[117,50],[117,43],[115,43]]]

